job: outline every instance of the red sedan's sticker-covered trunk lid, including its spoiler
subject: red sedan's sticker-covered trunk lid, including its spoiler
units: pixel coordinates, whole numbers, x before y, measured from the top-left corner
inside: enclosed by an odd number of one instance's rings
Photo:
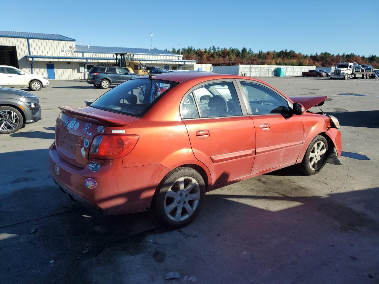
[[[90,106],[58,106],[62,113],[55,129],[55,145],[60,157],[69,164],[85,168],[91,142],[109,126],[126,126],[136,117],[103,111]]]

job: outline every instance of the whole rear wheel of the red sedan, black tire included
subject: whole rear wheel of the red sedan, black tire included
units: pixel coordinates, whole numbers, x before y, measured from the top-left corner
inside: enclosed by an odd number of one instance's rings
[[[182,228],[199,214],[204,198],[202,176],[192,168],[179,167],[161,181],[154,194],[151,211],[164,226]]]

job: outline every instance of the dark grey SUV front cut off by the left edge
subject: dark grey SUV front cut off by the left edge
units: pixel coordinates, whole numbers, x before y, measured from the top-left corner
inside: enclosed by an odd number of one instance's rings
[[[41,119],[39,99],[19,89],[0,87],[0,134],[14,133]]]

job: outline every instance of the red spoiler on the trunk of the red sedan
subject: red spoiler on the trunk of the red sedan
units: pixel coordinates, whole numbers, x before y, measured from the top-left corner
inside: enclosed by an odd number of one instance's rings
[[[102,124],[105,126],[125,126],[129,123],[122,121],[121,119],[116,119],[113,117],[105,117],[103,115],[98,115],[90,112],[85,112],[84,110],[73,108],[72,106],[58,106],[58,108],[65,114],[71,117],[76,117],[87,122]]]

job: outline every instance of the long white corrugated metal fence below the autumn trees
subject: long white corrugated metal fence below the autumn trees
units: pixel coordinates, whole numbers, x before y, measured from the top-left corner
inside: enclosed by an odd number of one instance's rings
[[[284,76],[301,76],[301,72],[315,70],[315,66],[284,66],[284,65],[238,65],[213,66],[213,71],[220,74],[241,75],[248,77],[276,76],[276,70],[284,67]]]

